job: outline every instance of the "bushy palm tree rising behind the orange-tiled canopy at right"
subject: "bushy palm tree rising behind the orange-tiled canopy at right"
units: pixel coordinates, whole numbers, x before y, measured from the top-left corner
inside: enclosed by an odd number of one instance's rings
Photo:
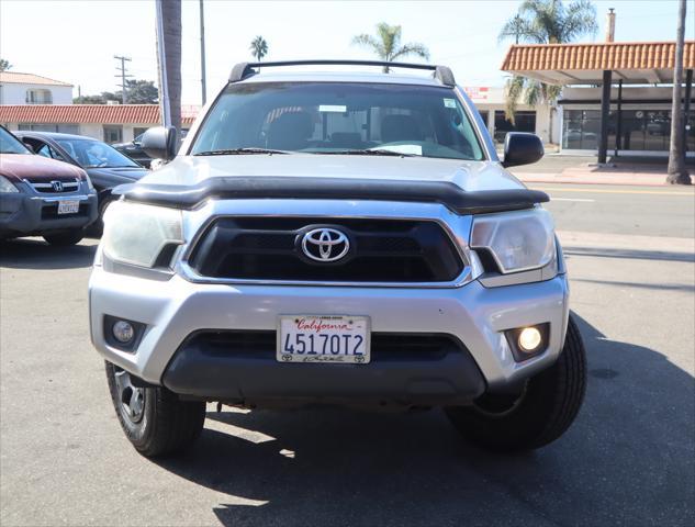
[[[525,0],[517,14],[502,26],[498,40],[513,37],[516,44],[561,44],[594,35],[597,29],[596,8],[588,0],[574,0],[567,5],[562,0]],[[514,76],[507,81],[506,119],[514,123],[514,111],[522,94],[526,104],[535,106],[539,102],[553,103],[560,90],[559,86]]]

